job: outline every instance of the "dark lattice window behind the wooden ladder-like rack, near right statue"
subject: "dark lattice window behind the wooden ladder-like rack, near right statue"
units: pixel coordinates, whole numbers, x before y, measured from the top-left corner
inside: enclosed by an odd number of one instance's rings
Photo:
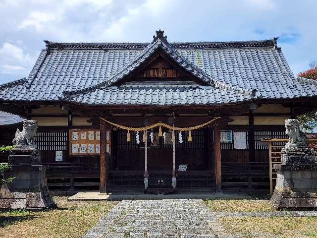
[[[254,131],[254,146],[256,150],[268,150],[268,142],[262,142],[262,139],[271,138],[287,138],[285,130],[273,130],[273,131]],[[274,142],[276,146],[284,146],[285,142]]]

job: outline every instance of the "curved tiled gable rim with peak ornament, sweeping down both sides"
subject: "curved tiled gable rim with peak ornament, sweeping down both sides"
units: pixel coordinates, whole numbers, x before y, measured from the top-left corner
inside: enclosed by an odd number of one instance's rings
[[[105,80],[94,86],[84,88],[76,91],[64,91],[66,97],[72,95],[78,95],[86,92],[92,92],[99,88],[105,88],[109,86],[118,86],[127,81],[132,76],[141,73],[147,65],[150,65],[154,60],[159,57],[164,58],[168,61],[175,69],[186,74],[192,81],[205,86],[221,87],[228,90],[238,91],[242,94],[252,94],[251,90],[242,88],[232,87],[216,81],[208,76],[201,68],[196,66],[194,63],[183,57],[177,52],[166,40],[166,36],[163,35],[164,31],[157,31],[157,35],[153,36],[153,42],[148,45],[134,60],[128,63],[125,67],[113,74],[108,80]]]

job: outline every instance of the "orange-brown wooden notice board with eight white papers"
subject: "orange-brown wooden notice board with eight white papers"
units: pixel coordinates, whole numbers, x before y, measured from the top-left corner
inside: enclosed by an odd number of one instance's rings
[[[70,155],[99,155],[99,129],[72,129],[69,130]]]

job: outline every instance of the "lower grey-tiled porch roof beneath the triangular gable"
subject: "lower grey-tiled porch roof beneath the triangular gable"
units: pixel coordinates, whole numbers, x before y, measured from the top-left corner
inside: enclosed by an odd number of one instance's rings
[[[260,96],[260,94],[257,94]],[[90,105],[208,105],[239,103],[254,100],[251,94],[228,89],[215,89],[194,82],[131,82],[121,86],[98,88],[92,92],[72,96],[73,103]]]

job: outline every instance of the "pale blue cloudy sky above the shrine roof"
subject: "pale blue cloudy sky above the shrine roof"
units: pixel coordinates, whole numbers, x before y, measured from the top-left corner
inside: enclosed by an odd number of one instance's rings
[[[317,61],[316,0],[0,0],[0,84],[29,74],[43,40],[150,42],[278,36],[294,73]]]

